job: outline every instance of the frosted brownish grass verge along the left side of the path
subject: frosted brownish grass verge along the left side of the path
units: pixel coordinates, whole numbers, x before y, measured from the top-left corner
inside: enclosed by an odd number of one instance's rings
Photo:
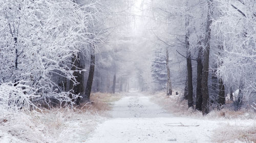
[[[44,109],[42,112],[2,111],[0,142],[84,142],[95,127],[106,120],[111,102],[119,94],[92,94],[93,104]],[[0,109],[1,110],[1,109]]]

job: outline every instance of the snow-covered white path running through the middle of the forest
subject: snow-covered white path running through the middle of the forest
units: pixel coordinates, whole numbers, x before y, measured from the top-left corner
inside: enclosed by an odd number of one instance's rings
[[[140,93],[127,93],[111,115],[86,142],[210,142],[211,130],[217,127],[215,121],[174,117]]]

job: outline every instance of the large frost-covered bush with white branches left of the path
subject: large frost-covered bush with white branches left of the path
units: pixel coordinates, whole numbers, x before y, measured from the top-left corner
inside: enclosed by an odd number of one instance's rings
[[[75,100],[64,84],[78,84],[72,57],[90,52],[90,45],[100,42],[94,33],[96,5],[91,1],[79,6],[71,0],[0,1],[1,103],[28,108],[35,101]]]

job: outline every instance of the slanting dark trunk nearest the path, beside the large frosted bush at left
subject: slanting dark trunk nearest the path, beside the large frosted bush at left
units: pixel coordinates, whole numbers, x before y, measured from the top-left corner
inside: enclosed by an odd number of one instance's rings
[[[90,95],[92,91],[92,84],[93,84],[93,76],[94,76],[94,68],[95,68],[95,54],[91,54],[91,62],[90,62],[90,70],[89,70],[89,76],[86,84],[86,92],[83,96],[82,101],[89,102],[90,101]]]

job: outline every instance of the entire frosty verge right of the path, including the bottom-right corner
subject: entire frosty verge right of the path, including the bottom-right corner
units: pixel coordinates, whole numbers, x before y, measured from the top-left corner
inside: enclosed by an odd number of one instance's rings
[[[218,121],[218,128],[211,136],[214,142],[256,142],[256,114],[253,111],[234,111],[228,108],[212,110],[207,116],[187,107],[187,101],[180,95],[166,96],[164,92],[148,95],[151,100],[178,117]]]

